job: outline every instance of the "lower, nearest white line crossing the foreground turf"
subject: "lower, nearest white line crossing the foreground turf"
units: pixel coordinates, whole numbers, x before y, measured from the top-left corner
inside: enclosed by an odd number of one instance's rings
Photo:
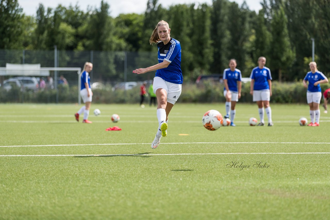
[[[58,154],[58,155],[0,155],[0,157],[111,157],[111,156],[176,156],[176,155],[230,155],[230,154],[330,154],[330,152],[293,153],[177,153],[177,154]]]

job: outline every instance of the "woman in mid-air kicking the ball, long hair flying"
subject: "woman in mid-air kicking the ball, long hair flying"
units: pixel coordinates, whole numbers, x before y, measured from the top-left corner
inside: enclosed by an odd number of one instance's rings
[[[167,136],[168,115],[179,99],[182,85],[180,42],[170,37],[171,29],[166,21],[159,21],[150,37],[150,44],[157,43],[158,64],[133,71],[144,74],[156,70],[153,79],[153,91],[157,97],[158,130],[151,148],[155,149],[161,137]]]

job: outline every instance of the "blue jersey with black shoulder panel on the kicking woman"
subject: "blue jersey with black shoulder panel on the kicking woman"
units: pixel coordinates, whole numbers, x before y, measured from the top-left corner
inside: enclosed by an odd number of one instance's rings
[[[156,77],[160,77],[165,81],[182,84],[183,77],[181,71],[181,46],[180,42],[171,38],[170,42],[164,45],[162,41],[157,43],[158,62],[164,60],[170,62],[168,67],[156,70]]]

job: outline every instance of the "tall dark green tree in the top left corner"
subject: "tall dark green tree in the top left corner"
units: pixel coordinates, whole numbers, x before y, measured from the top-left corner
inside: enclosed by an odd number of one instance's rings
[[[0,1],[0,48],[23,47],[22,8],[18,0]]]

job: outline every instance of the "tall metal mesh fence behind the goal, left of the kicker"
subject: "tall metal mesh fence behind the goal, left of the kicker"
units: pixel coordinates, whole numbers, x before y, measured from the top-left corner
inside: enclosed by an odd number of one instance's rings
[[[6,63],[37,64],[41,67],[81,67],[88,61],[93,63],[90,73],[92,82],[116,84],[126,81],[153,79],[153,74],[136,75],[132,71],[156,64],[155,52],[127,51],[72,51],[72,50],[0,50],[0,67]],[[36,77],[37,77],[36,73]],[[52,76],[54,73],[50,73]],[[62,72],[69,84],[77,83],[77,74]],[[1,76],[0,83],[11,76]]]

